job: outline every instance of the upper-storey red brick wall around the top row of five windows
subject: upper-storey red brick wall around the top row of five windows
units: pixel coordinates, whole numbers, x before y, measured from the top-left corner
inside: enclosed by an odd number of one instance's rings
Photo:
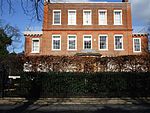
[[[61,24],[53,24],[53,10],[61,10]],[[68,25],[68,10],[76,10],[77,25]],[[83,10],[92,11],[92,25],[83,25]],[[98,25],[98,10],[107,10],[108,25]],[[114,10],[122,10],[123,25],[114,25]],[[49,3],[44,8],[43,30],[132,30],[130,3]]]

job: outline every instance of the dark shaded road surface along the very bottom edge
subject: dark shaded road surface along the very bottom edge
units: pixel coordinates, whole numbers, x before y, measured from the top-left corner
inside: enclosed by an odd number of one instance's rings
[[[0,113],[150,113],[150,105],[0,105]]]

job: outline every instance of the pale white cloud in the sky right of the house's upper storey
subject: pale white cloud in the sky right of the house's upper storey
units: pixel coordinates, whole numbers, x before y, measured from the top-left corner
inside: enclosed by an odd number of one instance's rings
[[[150,0],[130,0],[132,15],[144,23],[150,23]]]

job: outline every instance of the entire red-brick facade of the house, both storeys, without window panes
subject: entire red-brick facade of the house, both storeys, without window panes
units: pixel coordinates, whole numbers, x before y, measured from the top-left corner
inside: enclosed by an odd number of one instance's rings
[[[26,55],[75,55],[83,51],[83,36],[92,36],[92,50],[103,56],[141,54],[147,48],[147,34],[132,34],[131,4],[119,3],[45,3],[42,34],[25,33]],[[61,25],[53,25],[53,10],[61,10]],[[68,10],[76,10],[76,25],[68,25]],[[91,10],[92,25],[83,25],[83,10]],[[99,10],[107,10],[107,25],[99,25]],[[114,25],[114,10],[122,11],[122,25]],[[52,35],[61,36],[61,50],[52,50]],[[99,50],[99,35],[108,36],[108,50]],[[123,49],[114,50],[114,36],[123,36]],[[68,50],[68,35],[76,35],[77,50]],[[32,39],[40,40],[40,50],[32,53]],[[133,38],[141,39],[141,52],[133,51]]]

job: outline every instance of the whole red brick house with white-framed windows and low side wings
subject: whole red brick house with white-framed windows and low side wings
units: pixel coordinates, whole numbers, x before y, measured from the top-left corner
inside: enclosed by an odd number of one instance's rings
[[[131,4],[45,1],[42,31],[26,31],[25,55],[138,55],[148,34],[132,33]]]

